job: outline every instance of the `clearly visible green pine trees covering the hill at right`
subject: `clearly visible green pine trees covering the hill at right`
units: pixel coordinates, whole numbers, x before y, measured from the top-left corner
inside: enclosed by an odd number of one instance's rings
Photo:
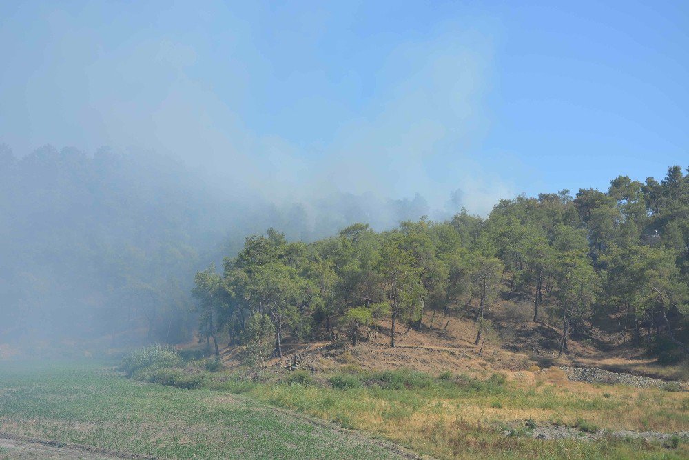
[[[661,181],[620,176],[606,192],[502,199],[485,219],[463,209],[382,232],[355,223],[310,243],[271,228],[246,237],[220,272],[199,271],[193,296],[209,349],[227,332],[254,363],[282,357],[287,337],[356,344],[382,319],[394,347],[460,310],[473,314],[478,345],[501,295],[559,329],[558,356],[573,334],[603,328],[676,362],[689,353],[688,286],[689,174],[672,166]]]

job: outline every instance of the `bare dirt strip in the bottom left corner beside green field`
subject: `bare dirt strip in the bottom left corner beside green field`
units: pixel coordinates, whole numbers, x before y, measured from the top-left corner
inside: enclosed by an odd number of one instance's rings
[[[0,433],[0,460],[115,460],[154,459],[125,452],[109,452],[92,446],[44,441],[15,434]]]

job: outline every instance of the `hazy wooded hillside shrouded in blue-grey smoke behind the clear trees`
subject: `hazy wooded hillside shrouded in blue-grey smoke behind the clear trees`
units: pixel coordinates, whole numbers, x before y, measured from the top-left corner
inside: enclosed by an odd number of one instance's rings
[[[194,272],[236,253],[245,235],[273,226],[311,241],[356,221],[382,229],[429,213],[419,195],[333,193],[277,206],[206,186],[157,154],[0,153],[3,341],[141,339],[149,327],[150,339],[188,339]]]

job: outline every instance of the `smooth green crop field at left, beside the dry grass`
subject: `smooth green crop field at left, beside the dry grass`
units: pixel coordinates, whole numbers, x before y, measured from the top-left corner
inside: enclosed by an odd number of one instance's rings
[[[251,399],[141,384],[92,363],[0,362],[0,432],[172,459],[397,457]]]

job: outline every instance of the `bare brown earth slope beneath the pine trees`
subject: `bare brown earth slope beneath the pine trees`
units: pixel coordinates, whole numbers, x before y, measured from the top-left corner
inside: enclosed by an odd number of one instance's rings
[[[531,321],[530,303],[500,300],[491,306],[486,318],[493,325],[486,332],[483,346],[475,345],[477,325],[471,306],[446,317],[436,312],[424,313],[422,326],[410,328],[398,324],[396,346],[390,346],[390,320],[380,319],[359,334],[352,347],[345,331],[336,331],[336,339],[299,343],[287,339],[282,360],[272,359],[273,369],[307,368],[313,371],[356,366],[365,370],[411,368],[439,374],[444,371],[487,374],[519,372],[551,366],[603,368],[613,372],[643,375],[665,380],[686,381],[686,364],[659,366],[646,357],[644,350],[621,343],[619,334],[590,328],[588,337],[570,337],[568,350],[559,359],[561,330],[546,321]],[[449,322],[448,322],[449,319]],[[446,326],[447,325],[447,326]],[[446,326],[446,328],[445,328]],[[322,331],[322,336],[326,336]],[[238,366],[241,347],[225,348],[221,358],[225,366]]]

